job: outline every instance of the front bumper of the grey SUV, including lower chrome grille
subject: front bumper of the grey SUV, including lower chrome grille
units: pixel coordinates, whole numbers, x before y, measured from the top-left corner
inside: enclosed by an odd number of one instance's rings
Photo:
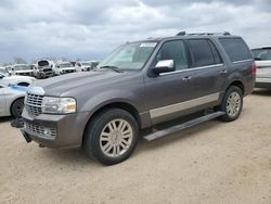
[[[87,112],[67,115],[40,114],[33,118],[25,110],[22,116],[24,119],[22,133],[27,142],[33,140],[55,149],[81,146],[83,130],[89,118]]]

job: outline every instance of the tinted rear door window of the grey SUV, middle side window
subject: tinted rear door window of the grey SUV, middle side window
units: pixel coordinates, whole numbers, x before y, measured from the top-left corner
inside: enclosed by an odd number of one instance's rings
[[[208,40],[193,39],[189,40],[189,43],[194,67],[216,64]]]

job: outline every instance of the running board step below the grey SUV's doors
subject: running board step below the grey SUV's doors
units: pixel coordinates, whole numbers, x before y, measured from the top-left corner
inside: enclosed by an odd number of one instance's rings
[[[190,127],[193,127],[193,126],[202,124],[204,122],[208,122],[210,119],[214,119],[216,117],[222,116],[224,114],[225,114],[224,112],[215,112],[215,113],[211,113],[211,114],[208,114],[208,115],[204,115],[202,117],[197,117],[195,119],[185,122],[183,124],[171,126],[171,127],[163,129],[163,130],[154,131],[154,132],[152,132],[152,133],[150,133],[150,135],[147,135],[147,136],[145,136],[143,138],[145,140],[147,140],[147,141],[156,140],[158,138],[163,138],[165,136],[178,132],[180,130],[183,130],[183,129],[186,129],[186,128],[190,128]]]

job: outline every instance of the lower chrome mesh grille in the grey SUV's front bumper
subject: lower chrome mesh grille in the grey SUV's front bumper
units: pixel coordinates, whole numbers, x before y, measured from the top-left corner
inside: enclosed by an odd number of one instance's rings
[[[54,139],[56,137],[56,128],[43,127],[35,124],[24,123],[24,129],[30,135],[38,136],[44,139]]]

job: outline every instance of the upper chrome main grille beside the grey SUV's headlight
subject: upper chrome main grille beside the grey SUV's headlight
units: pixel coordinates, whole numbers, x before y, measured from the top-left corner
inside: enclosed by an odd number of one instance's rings
[[[30,115],[38,116],[41,114],[42,98],[43,95],[27,93],[25,109]]]

